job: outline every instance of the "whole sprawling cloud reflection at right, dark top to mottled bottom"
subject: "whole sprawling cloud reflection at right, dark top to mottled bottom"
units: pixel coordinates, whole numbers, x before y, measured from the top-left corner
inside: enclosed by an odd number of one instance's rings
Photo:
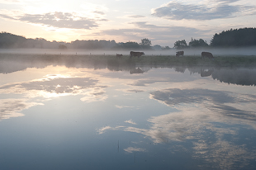
[[[106,130],[133,132],[155,144],[191,141],[193,157],[216,169],[235,169],[238,165],[243,168],[256,158],[255,149],[225,137],[236,139],[240,135],[237,125],[256,130],[256,96],[200,88],[166,89],[150,95],[178,111],[151,116],[147,120],[149,128],[108,126],[101,133]]]

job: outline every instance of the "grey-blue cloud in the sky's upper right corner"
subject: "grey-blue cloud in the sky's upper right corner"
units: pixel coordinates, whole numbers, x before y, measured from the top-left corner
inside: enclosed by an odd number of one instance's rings
[[[237,0],[216,0],[207,5],[185,4],[181,2],[168,2],[168,4],[152,10],[155,17],[164,17],[170,20],[213,20],[220,18],[254,15],[256,7],[230,5]],[[216,5],[215,5],[216,4]]]

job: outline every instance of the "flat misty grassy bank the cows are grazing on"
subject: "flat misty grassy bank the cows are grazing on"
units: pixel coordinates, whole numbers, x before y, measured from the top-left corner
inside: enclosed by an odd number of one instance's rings
[[[256,67],[256,56],[217,56],[214,59],[201,59],[201,56],[145,55],[140,58],[124,55],[117,59],[115,55],[70,55],[70,54],[0,54],[0,60],[21,63],[47,63],[66,65],[94,65],[99,67],[149,67],[170,66],[211,66],[211,67]]]

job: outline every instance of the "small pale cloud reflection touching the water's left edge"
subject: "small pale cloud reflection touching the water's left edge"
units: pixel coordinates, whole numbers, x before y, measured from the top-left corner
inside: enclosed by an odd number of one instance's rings
[[[25,99],[1,99],[0,100],[0,120],[11,117],[24,116],[21,111],[31,106],[42,105],[36,102],[27,102]]]

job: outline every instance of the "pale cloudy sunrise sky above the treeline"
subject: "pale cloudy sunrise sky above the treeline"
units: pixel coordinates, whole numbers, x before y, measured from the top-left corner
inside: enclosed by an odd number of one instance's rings
[[[0,31],[26,38],[135,41],[173,47],[256,27],[252,0],[0,0]]]

